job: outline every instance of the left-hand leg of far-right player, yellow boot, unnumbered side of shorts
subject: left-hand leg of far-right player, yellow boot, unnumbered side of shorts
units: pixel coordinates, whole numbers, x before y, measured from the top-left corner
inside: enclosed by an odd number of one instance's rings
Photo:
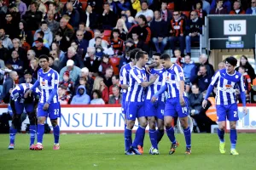
[[[224,133],[226,127],[226,108],[224,105],[216,105],[216,111],[218,116],[219,152],[221,154],[224,154],[226,152],[224,140]]]

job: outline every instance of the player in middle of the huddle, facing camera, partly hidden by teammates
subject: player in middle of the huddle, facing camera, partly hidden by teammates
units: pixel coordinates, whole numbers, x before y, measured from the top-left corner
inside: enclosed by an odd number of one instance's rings
[[[160,90],[165,74],[165,69],[160,64],[160,53],[153,54],[153,65],[154,68],[150,71],[150,77],[157,74],[159,77],[156,81],[148,87],[146,99],[144,102],[145,116],[148,120],[149,125],[149,138],[152,147],[149,150],[149,154],[159,155],[158,143],[164,135],[164,110],[165,110],[165,94],[161,94],[160,98],[156,102],[152,103],[151,98],[157,91]],[[157,123],[156,123],[157,120]],[[158,130],[155,130],[155,123],[157,124]]]

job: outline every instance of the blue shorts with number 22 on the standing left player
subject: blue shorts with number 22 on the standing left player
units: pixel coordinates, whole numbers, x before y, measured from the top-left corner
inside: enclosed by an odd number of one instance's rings
[[[45,117],[49,116],[49,119],[55,120],[61,116],[60,103],[50,103],[47,111],[44,111],[43,107],[44,107],[44,104],[42,104],[42,103],[38,104],[38,117],[39,116],[45,116]]]

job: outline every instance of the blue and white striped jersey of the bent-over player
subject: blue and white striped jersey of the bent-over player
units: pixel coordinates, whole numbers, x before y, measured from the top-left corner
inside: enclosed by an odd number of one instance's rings
[[[21,83],[17,85],[12,93],[10,94],[11,99],[20,103],[23,103],[25,100],[24,94],[26,93],[26,89],[32,88],[31,83]],[[41,92],[38,88],[35,88],[32,90],[32,94],[34,95],[35,98],[40,98]]]

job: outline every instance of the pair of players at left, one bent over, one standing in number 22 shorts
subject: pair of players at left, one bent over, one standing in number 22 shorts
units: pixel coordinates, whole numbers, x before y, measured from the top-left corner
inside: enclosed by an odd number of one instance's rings
[[[20,126],[20,115],[23,110],[29,117],[30,150],[43,150],[44,122],[49,116],[53,126],[55,138],[54,150],[60,149],[60,127],[57,119],[61,115],[61,107],[58,101],[59,74],[49,68],[47,55],[39,57],[41,69],[38,71],[38,80],[33,85],[22,83],[16,86],[10,94],[10,105],[13,112],[13,121],[9,130],[9,150],[15,149],[15,134]],[[38,88],[40,86],[40,88]],[[40,90],[39,90],[40,89]],[[38,143],[34,144],[37,136]]]

